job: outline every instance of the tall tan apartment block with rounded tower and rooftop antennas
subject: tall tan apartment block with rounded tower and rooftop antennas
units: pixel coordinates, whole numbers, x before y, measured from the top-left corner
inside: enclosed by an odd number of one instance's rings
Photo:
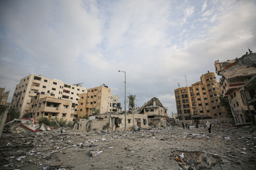
[[[201,81],[190,87],[174,90],[179,120],[216,119],[226,117],[226,108],[220,105],[220,87],[215,73],[206,73]]]

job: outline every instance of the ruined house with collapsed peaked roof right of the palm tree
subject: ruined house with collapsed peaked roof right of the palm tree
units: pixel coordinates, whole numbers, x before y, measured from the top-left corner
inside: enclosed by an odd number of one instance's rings
[[[166,119],[168,119],[167,107],[164,107],[158,98],[153,97],[140,107],[138,114],[148,115],[149,126],[166,127]]]

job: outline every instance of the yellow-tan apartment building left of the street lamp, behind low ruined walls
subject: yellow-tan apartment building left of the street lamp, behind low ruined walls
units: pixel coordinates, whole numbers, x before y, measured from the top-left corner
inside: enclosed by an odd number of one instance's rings
[[[88,89],[87,94],[80,94],[78,99],[78,117],[92,115],[93,109],[100,109],[100,114],[106,112],[122,112],[119,96],[111,94],[111,89],[106,85]],[[119,103],[119,104],[118,104]]]

